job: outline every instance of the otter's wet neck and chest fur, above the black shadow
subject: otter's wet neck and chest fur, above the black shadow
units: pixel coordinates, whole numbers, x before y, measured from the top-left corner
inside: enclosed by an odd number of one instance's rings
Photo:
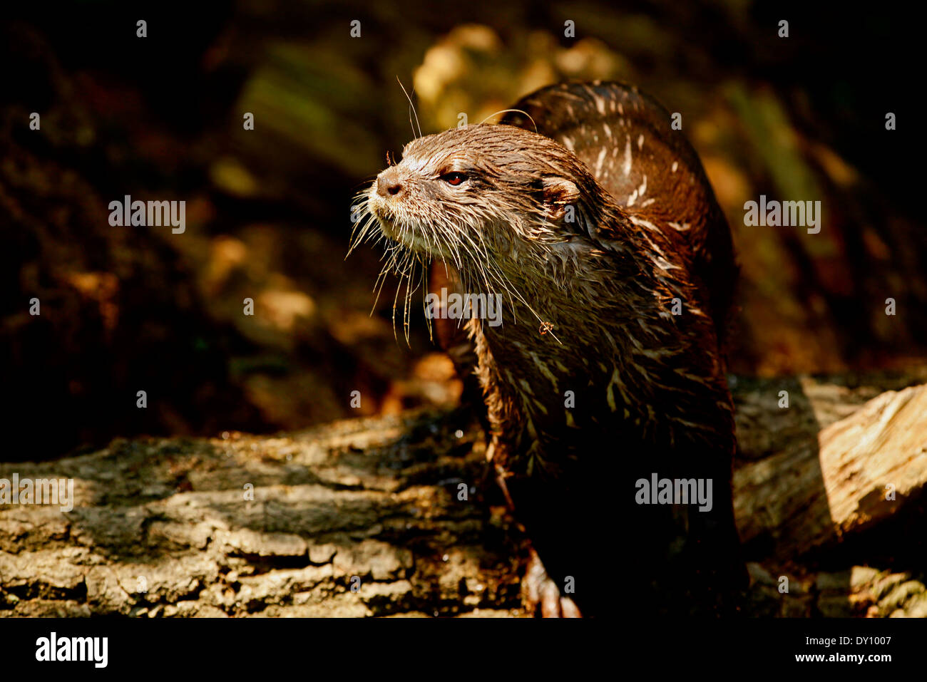
[[[546,259],[514,261],[505,274],[530,298],[504,297],[501,326],[472,322],[489,423],[509,439],[512,470],[567,466],[599,434],[657,443],[732,433],[717,354],[700,343],[713,327],[674,278],[678,266],[625,214],[600,224],[612,247],[578,234],[545,245]],[[672,314],[674,299],[684,314]],[[712,405],[699,404],[706,388]],[[729,408],[720,417],[718,404]]]

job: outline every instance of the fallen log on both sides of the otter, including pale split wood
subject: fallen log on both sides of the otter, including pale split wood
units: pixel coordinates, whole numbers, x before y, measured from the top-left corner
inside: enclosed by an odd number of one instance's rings
[[[863,404],[872,386],[803,379],[788,410],[774,407],[780,388],[736,389],[739,523],[746,540],[775,540],[748,552],[744,612],[927,615],[923,565],[802,558],[922,512],[927,385]],[[483,459],[464,412],[437,410],[3,464],[0,478],[71,477],[75,500],[0,506],[0,614],[522,615],[527,546]]]

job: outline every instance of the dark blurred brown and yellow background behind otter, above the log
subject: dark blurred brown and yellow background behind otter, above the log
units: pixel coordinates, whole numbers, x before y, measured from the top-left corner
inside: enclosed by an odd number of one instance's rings
[[[743,267],[732,372],[923,364],[923,40],[901,6],[126,5],[5,7],[5,460],[453,401],[421,315],[409,346],[394,338],[395,283],[368,317],[379,253],[344,260],[351,197],[412,136],[397,77],[415,86],[425,133],[550,82],[641,85],[682,113],[731,223]],[[108,202],[126,194],[185,200],[186,232],[110,227]],[[743,202],[760,194],[821,200],[820,234],[744,227]]]

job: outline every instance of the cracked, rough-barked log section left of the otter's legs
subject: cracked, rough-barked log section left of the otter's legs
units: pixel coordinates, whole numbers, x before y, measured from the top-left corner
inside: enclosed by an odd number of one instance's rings
[[[0,613],[516,614],[521,550],[476,501],[482,447],[457,437],[459,417],[117,440],[0,466],[73,477],[76,497],[68,513],[0,511]]]

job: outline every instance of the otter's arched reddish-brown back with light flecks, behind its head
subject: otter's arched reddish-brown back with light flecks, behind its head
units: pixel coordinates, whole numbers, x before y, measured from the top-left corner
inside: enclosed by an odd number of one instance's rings
[[[636,87],[573,82],[542,88],[502,119],[556,140],[591,170],[631,215],[667,224],[667,238],[689,253],[723,344],[737,266],[730,229],[698,155],[671,114]],[[524,113],[521,113],[524,112]],[[530,117],[530,118],[528,118]]]

